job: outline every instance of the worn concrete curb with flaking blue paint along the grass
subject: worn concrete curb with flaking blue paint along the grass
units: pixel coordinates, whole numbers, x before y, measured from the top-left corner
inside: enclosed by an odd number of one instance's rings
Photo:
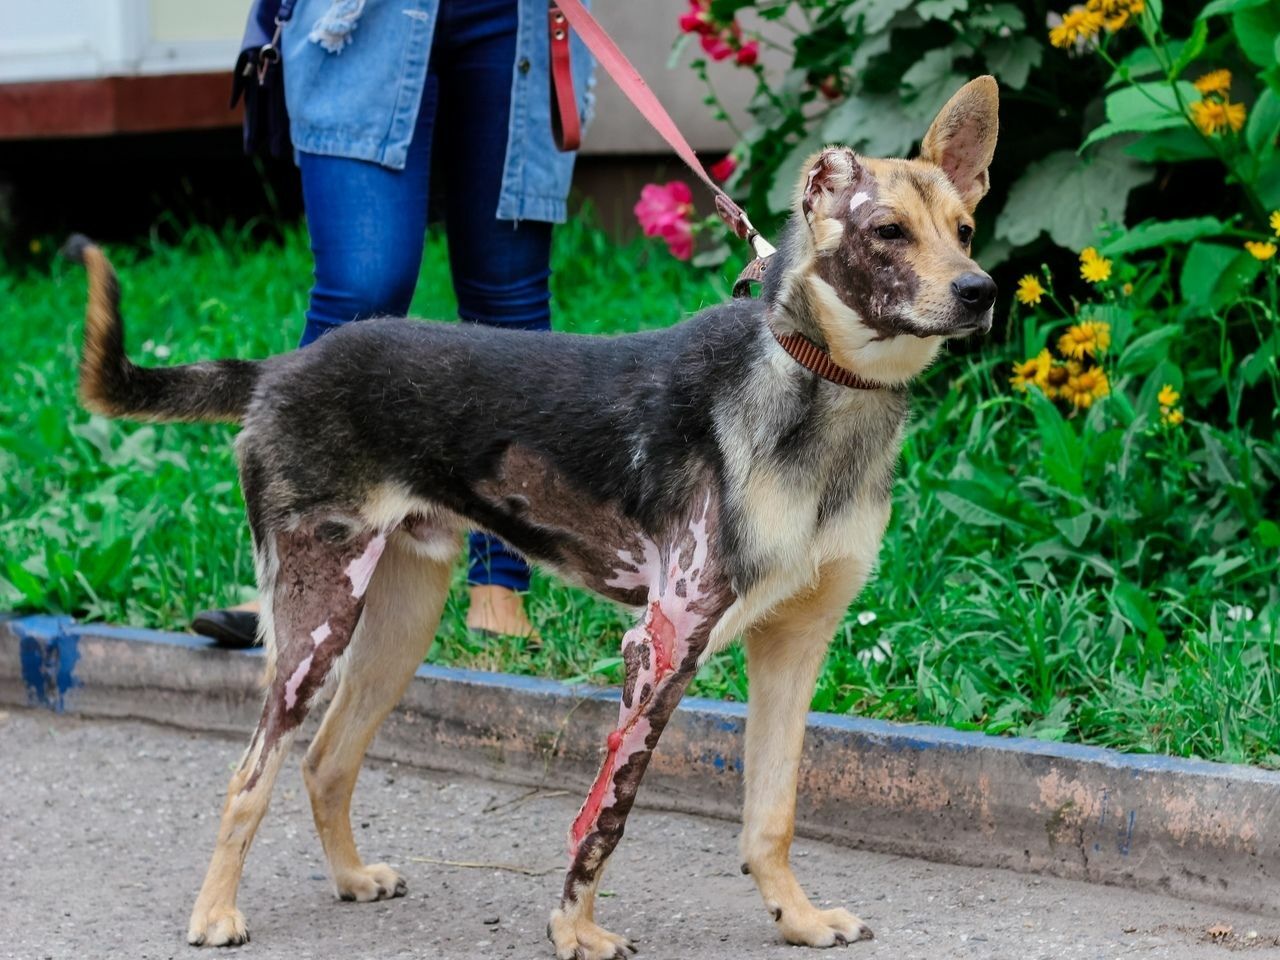
[[[0,621],[0,704],[243,736],[260,653],[65,618]],[[424,666],[383,759],[586,790],[616,691]],[[686,699],[641,803],[733,819],[742,704]],[[1280,915],[1280,773],[812,714],[797,832],[881,852],[1048,873]],[[563,824],[567,828],[567,824]]]

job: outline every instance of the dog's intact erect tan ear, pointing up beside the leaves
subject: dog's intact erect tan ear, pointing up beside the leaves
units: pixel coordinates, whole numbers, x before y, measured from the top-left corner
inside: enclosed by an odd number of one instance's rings
[[[991,188],[987,168],[998,129],[1000,87],[995,77],[978,77],[956,91],[924,134],[920,159],[942,168],[970,212]]]

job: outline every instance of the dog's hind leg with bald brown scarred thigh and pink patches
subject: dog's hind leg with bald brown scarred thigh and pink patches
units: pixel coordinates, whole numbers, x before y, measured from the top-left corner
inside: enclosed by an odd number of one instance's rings
[[[323,517],[269,530],[259,544],[266,701],[227,788],[214,856],[191,913],[191,943],[232,946],[248,940],[236,908],[244,856],[298,724],[351,641],[385,543],[361,521]]]

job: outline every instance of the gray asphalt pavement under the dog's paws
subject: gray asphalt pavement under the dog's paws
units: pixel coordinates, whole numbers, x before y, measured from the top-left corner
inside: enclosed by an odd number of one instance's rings
[[[143,723],[0,712],[0,957],[210,956],[183,934],[242,749]],[[397,865],[410,892],[347,904],[333,897],[291,763],[241,890],[253,940],[214,956],[545,960],[543,931],[580,799],[367,765],[357,841],[366,861]],[[635,937],[641,960],[806,956],[777,940],[739,872],[736,833],[722,820],[637,810],[596,919]],[[815,902],[847,906],[876,931],[873,942],[822,956],[1197,960],[1266,955],[1280,943],[1280,920],[1117,888],[806,840],[795,864]]]

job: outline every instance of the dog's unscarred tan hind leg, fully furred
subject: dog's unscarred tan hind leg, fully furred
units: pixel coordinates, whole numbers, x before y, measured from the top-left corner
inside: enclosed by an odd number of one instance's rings
[[[449,591],[451,567],[449,559],[421,556],[407,535],[392,535],[369,586],[338,692],[302,763],[316,832],[334,892],[342,900],[404,893],[404,881],[396,870],[387,864],[366,867],[356,852],[351,794],[374,733],[431,646]]]

